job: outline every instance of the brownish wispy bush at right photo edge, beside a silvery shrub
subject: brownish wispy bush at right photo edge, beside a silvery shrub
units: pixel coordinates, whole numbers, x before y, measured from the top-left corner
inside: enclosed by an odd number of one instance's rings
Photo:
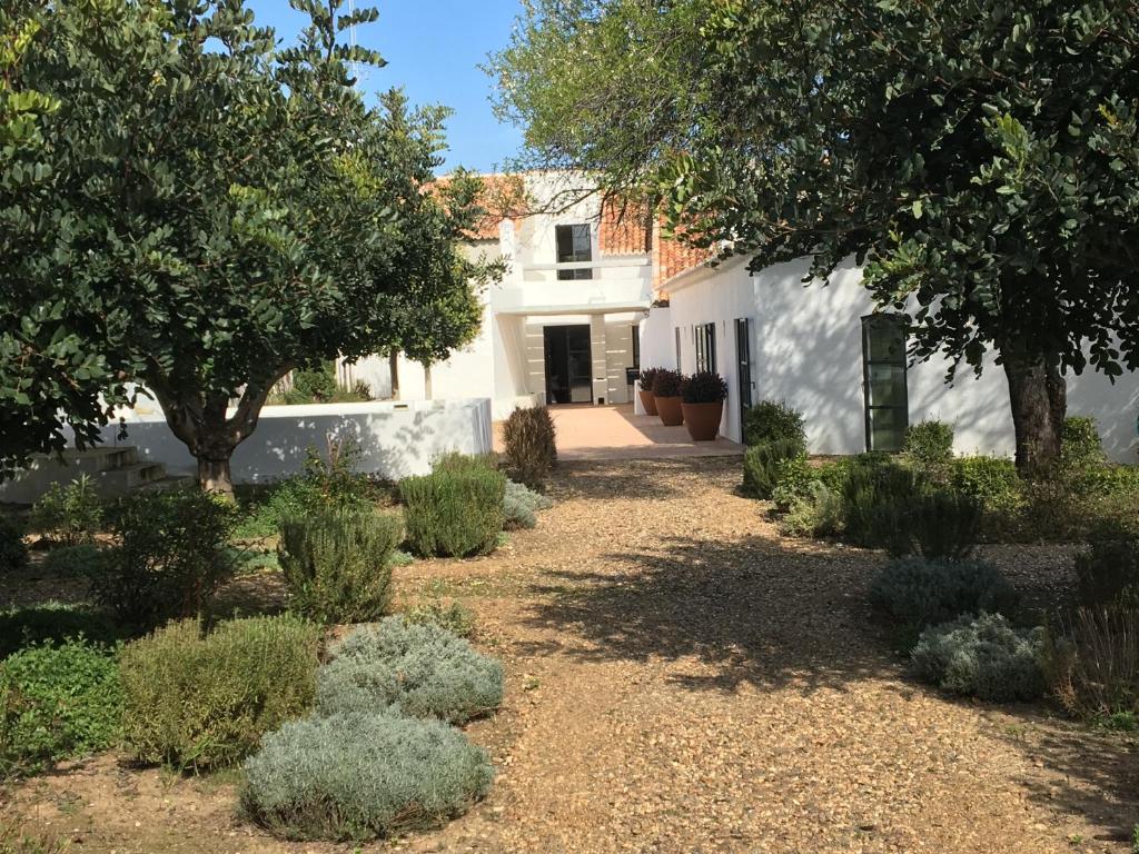
[[[1139,606],[1077,608],[1049,633],[1046,672],[1073,715],[1105,722],[1139,715]]]

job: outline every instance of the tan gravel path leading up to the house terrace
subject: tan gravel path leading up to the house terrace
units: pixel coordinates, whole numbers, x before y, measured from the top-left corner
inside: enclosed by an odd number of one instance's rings
[[[778,536],[738,460],[580,463],[469,597],[511,674],[490,799],[415,851],[1130,851],[1133,744],[904,679],[877,558]],[[1067,557],[1000,549],[1048,591]],[[1031,590],[1029,591],[1032,592]]]

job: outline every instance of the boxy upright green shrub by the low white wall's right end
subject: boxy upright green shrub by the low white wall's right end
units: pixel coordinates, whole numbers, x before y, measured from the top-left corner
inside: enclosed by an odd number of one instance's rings
[[[486,555],[506,523],[506,477],[483,469],[440,470],[400,482],[411,550],[421,556]]]

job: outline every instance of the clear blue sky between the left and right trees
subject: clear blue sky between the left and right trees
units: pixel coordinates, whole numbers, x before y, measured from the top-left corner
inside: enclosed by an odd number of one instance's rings
[[[369,69],[361,87],[376,92],[403,87],[412,104],[442,104],[448,120],[446,163],[489,172],[513,155],[521,132],[499,124],[491,114],[491,80],[476,66],[486,54],[506,46],[521,9],[518,0],[357,0],[375,6],[379,20],[359,27],[358,41],[387,60]],[[257,22],[288,41],[305,16],[288,0],[246,0]]]

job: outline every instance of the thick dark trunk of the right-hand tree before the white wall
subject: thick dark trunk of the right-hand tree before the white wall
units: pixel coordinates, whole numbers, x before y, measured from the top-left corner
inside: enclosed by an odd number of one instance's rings
[[[1016,430],[1016,468],[1027,477],[1047,475],[1059,462],[1067,413],[1067,384],[1043,356],[1003,354]]]

